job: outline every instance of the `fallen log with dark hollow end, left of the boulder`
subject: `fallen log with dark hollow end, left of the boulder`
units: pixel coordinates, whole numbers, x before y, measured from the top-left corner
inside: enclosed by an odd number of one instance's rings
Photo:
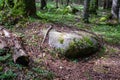
[[[28,65],[29,57],[21,43],[17,35],[0,26],[0,49],[9,47],[13,50],[13,60],[15,63]]]

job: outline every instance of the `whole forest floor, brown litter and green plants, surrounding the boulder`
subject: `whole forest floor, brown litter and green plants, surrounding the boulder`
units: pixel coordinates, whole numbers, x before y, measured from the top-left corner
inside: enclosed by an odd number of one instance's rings
[[[77,15],[63,14],[64,10],[61,12],[56,8],[51,10],[37,13],[43,18],[41,21],[23,19],[10,29],[22,37],[30,63],[29,66],[15,64],[11,53],[0,56],[0,80],[120,80],[120,25],[100,22],[101,17],[105,19],[105,12],[100,10],[97,16],[90,16],[89,24],[82,22],[82,10]],[[59,57],[50,51],[47,38],[44,45],[40,46],[43,40],[40,30],[50,25],[59,31],[82,29],[99,34],[104,39],[104,47],[86,58],[68,60]]]

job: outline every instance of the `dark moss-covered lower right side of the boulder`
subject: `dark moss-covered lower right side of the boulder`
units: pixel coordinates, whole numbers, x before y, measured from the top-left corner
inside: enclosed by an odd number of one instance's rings
[[[98,42],[93,37],[82,37],[82,39],[72,40],[65,51],[68,58],[84,57],[98,51]]]

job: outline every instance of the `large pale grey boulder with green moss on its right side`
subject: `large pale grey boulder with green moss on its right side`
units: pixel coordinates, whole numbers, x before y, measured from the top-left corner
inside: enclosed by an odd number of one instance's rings
[[[49,46],[68,58],[87,56],[99,50],[99,42],[96,37],[83,31],[58,32],[51,30],[48,37]]]

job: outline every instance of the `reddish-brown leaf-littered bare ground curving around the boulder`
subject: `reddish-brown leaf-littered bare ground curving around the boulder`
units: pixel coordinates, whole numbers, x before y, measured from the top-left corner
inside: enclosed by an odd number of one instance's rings
[[[39,63],[37,66],[44,66],[45,69],[52,71],[55,76],[53,80],[119,80],[120,79],[120,50],[119,45],[112,47],[106,45],[103,52],[92,55],[84,59],[67,60],[60,58],[54,51],[50,51],[47,44],[40,47],[43,37],[40,35],[40,29],[49,27],[42,23],[30,23],[22,28],[16,28],[19,35],[24,36],[25,49],[30,58]],[[53,25],[58,30],[69,30],[64,25]],[[61,26],[63,26],[61,28]],[[47,41],[47,40],[46,40]],[[99,56],[99,57],[96,57]],[[32,65],[32,63],[30,63]],[[36,78],[39,78],[36,74]],[[22,79],[24,80],[25,77]],[[44,80],[45,78],[43,78]],[[47,79],[45,79],[47,80]]]

